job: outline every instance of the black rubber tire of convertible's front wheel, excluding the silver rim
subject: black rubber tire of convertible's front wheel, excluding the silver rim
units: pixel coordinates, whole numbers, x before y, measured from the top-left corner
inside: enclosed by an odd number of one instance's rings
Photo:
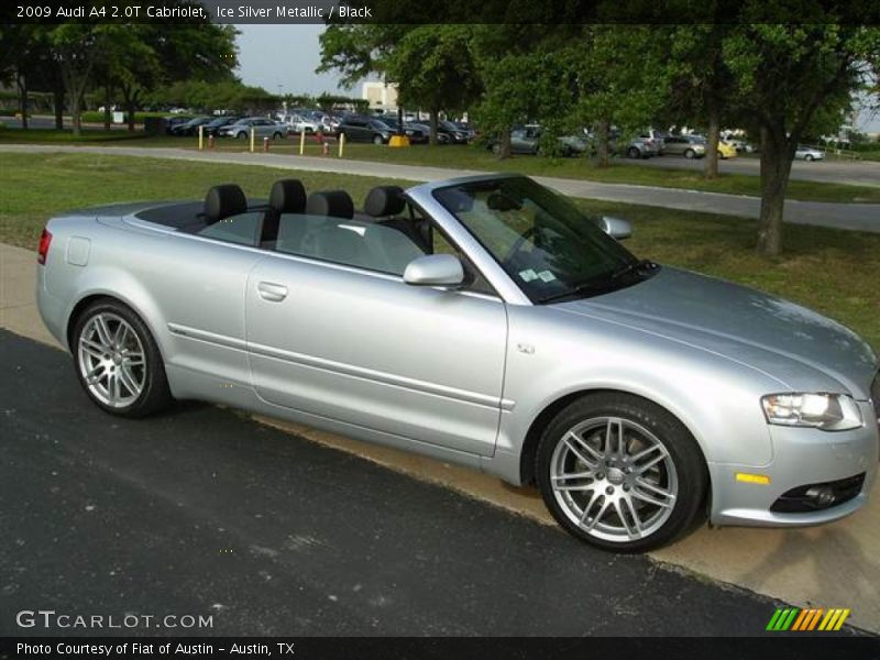
[[[620,417],[644,426],[663,443],[672,457],[679,493],[672,514],[651,536],[635,541],[613,542],[588,536],[556,501],[550,484],[550,461],[562,436],[576,424],[594,417]],[[646,552],[663,547],[692,530],[705,515],[708,476],[702,451],[688,429],[667,410],[640,397],[603,393],[587,395],[563,408],[547,426],[538,446],[536,480],[544,505],[563,529],[603,550],[622,553]]]

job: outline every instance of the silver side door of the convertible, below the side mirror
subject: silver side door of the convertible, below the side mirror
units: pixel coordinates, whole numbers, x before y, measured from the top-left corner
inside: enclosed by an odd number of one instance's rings
[[[270,254],[249,276],[245,319],[263,399],[398,441],[494,452],[507,341],[501,299]]]

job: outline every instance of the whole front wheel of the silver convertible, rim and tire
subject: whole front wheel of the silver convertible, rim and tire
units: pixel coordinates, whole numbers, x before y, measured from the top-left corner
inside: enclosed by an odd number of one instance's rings
[[[557,521],[603,550],[653,550],[705,517],[708,477],[696,441],[640,397],[600,393],[563,408],[544,429],[536,471]]]

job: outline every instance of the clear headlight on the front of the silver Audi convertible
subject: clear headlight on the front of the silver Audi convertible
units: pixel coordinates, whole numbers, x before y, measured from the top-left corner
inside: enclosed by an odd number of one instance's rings
[[[761,405],[767,421],[781,426],[846,431],[864,424],[859,407],[846,394],[769,394]]]

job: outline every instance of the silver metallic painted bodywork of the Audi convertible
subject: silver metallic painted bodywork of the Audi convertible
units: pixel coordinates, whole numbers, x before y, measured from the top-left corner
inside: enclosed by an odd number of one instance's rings
[[[114,297],[150,328],[177,397],[293,419],[514,484],[528,459],[525,438],[547,406],[617,389],[663,406],[693,433],[711,475],[715,524],[826,522],[865,503],[880,443],[868,403],[878,364],[857,336],[779,298],[669,267],[615,293],[535,306],[433,198],[453,183],[419,185],[407,196],[497,297],[414,287],[134,217],[153,202],[51,220],[52,248],[37,267],[40,312],[67,345],[76,306]],[[68,263],[82,241],[87,264]],[[286,293],[265,299],[260,283]],[[866,425],[834,433],[770,427],[759,399],[785,389],[850,394]],[[760,471],[771,485],[737,482],[737,471]],[[862,471],[862,494],[845,505],[769,512],[785,490]]]

